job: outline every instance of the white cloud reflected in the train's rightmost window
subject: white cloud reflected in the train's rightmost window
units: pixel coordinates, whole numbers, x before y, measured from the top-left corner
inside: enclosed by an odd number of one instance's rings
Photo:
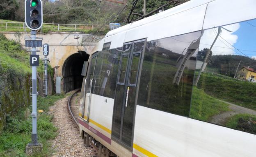
[[[230,24],[228,26],[224,26],[224,28],[232,32],[226,31],[222,28],[222,32],[220,33],[220,36],[218,37],[213,46],[213,55],[232,55],[235,53],[233,51],[233,47],[230,44],[234,45],[237,42],[238,36],[233,33],[240,28],[240,24]],[[208,29],[204,31],[203,36],[201,37],[199,51],[204,48],[210,48],[210,45],[213,44],[213,41],[217,35],[217,31],[218,28]],[[230,44],[225,42],[221,37],[228,41]]]

